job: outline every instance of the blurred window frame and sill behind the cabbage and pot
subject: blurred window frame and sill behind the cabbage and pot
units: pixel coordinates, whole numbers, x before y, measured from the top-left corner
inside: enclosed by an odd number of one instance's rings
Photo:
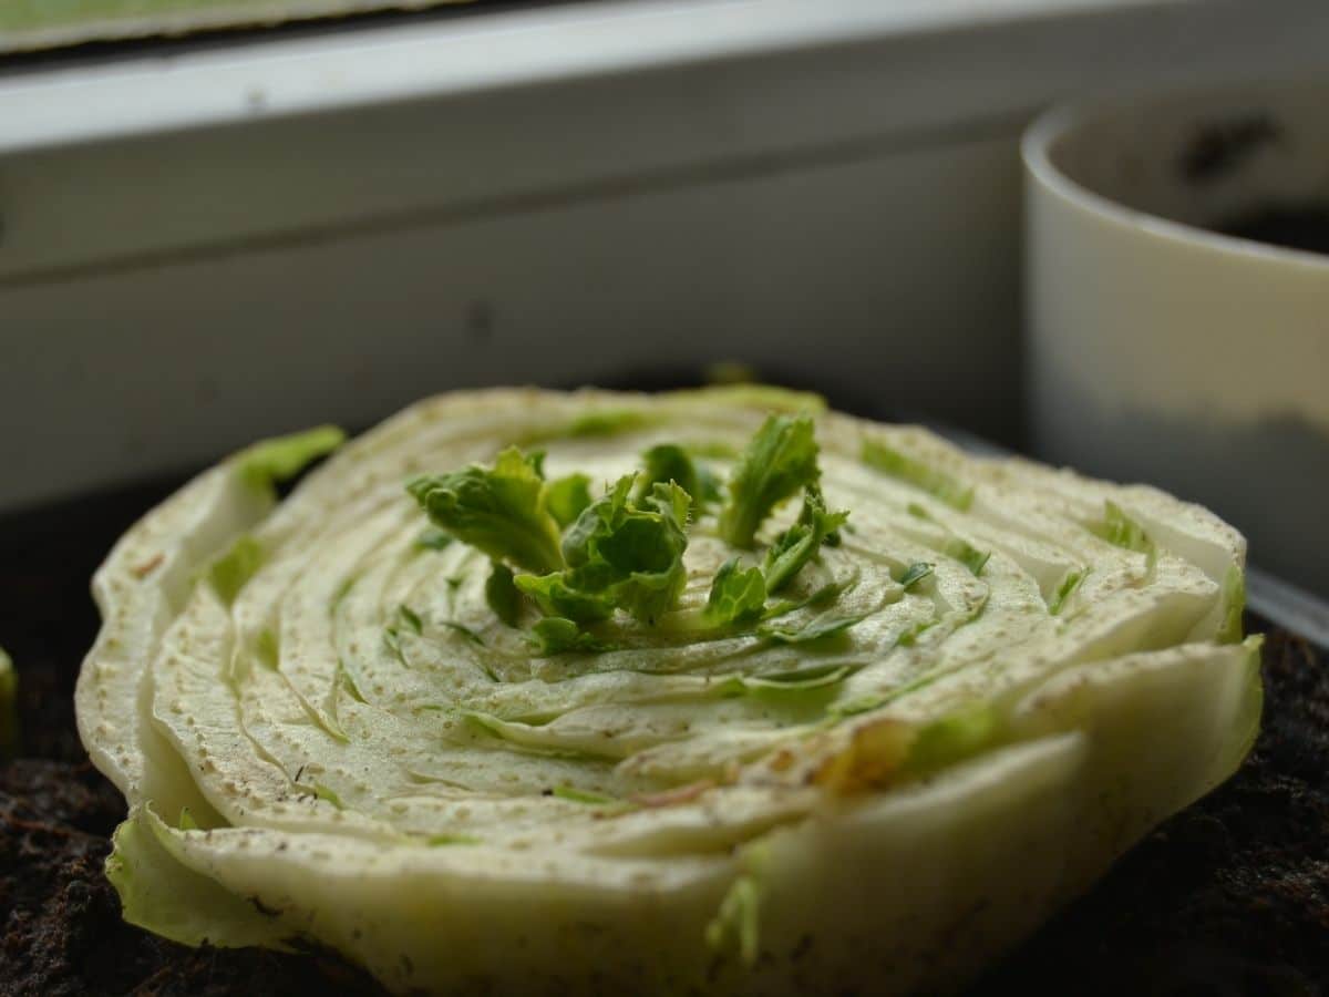
[[[1322,0],[391,7],[3,5],[0,514],[448,388],[736,362],[1268,518],[1031,384],[1019,144],[1067,100],[1329,73]]]

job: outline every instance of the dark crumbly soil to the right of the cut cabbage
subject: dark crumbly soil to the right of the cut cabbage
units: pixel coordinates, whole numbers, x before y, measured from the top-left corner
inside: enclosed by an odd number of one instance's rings
[[[1329,993],[1329,655],[1271,631],[1264,682],[1264,730],[1241,771],[1120,859],[979,993]]]

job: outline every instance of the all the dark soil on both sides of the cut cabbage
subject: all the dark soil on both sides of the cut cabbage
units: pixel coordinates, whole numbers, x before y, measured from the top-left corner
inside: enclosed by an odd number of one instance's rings
[[[0,646],[23,742],[0,762],[0,994],[376,994],[334,957],[187,949],[124,924],[102,876],[124,816],[74,731],[88,578],[163,485],[0,520]],[[1269,630],[1249,619],[1256,630]],[[1124,856],[978,994],[1329,993],[1329,655],[1271,631],[1245,767]]]

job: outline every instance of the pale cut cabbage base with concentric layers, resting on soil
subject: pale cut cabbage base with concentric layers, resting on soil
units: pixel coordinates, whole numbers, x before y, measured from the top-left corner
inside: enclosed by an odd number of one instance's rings
[[[108,871],[186,944],[315,944],[397,992],[944,989],[1255,736],[1244,541],[1152,488],[775,389],[513,389],[279,501],[339,439],[203,473],[94,581]],[[408,492],[500,464],[517,546]],[[682,550],[650,611],[542,611],[595,509]]]

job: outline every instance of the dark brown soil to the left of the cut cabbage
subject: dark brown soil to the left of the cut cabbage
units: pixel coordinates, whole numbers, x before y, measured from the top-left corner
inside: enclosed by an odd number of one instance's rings
[[[0,997],[377,994],[322,956],[189,949],[120,919],[102,875],[120,792],[74,730],[97,631],[89,580],[116,537],[179,477],[0,520],[0,647],[19,670],[19,758],[0,760]]]

